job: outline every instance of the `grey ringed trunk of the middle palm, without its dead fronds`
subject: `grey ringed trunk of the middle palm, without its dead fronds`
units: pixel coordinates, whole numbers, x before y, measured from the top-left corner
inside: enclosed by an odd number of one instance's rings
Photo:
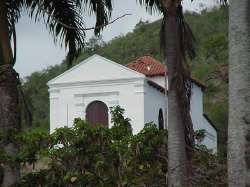
[[[181,109],[175,89],[172,89],[172,79],[175,74],[175,64],[180,57],[180,33],[177,19],[177,8],[170,6],[165,15],[166,24],[165,46],[166,65],[168,68],[168,186],[187,186],[186,178],[186,144]]]

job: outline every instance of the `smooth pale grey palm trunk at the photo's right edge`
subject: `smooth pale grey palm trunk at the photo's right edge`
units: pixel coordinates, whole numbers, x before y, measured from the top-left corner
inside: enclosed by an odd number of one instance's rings
[[[229,7],[228,184],[250,186],[250,1]]]

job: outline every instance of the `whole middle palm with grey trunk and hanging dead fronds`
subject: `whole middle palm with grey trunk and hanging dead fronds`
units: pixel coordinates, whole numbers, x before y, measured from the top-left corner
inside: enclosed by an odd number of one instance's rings
[[[194,144],[190,117],[191,81],[186,56],[193,58],[194,37],[185,23],[181,0],[138,0],[164,18],[161,47],[168,69],[168,186],[187,186],[187,147]]]

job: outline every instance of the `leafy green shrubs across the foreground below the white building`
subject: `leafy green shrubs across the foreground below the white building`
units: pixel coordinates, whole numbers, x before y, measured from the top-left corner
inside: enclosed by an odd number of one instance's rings
[[[93,127],[78,118],[72,127],[58,128],[51,135],[33,129],[15,136],[21,145],[19,154],[10,157],[0,152],[0,165],[21,163],[24,168],[36,168],[46,158],[47,167],[22,174],[20,187],[167,186],[167,131],[149,123],[133,135],[122,108],[113,108],[111,114],[111,128]],[[215,155],[195,150],[193,158],[188,180],[194,186],[225,185],[225,168]]]

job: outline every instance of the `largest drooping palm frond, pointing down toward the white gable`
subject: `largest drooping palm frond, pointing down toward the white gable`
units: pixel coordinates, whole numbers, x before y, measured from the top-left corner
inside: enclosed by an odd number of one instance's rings
[[[45,25],[54,36],[55,41],[69,48],[69,63],[84,47],[85,33],[79,29],[69,29],[60,22],[81,28],[83,20],[76,2],[73,0],[25,0],[30,17],[35,20],[44,18]],[[58,22],[59,20],[60,22]]]

